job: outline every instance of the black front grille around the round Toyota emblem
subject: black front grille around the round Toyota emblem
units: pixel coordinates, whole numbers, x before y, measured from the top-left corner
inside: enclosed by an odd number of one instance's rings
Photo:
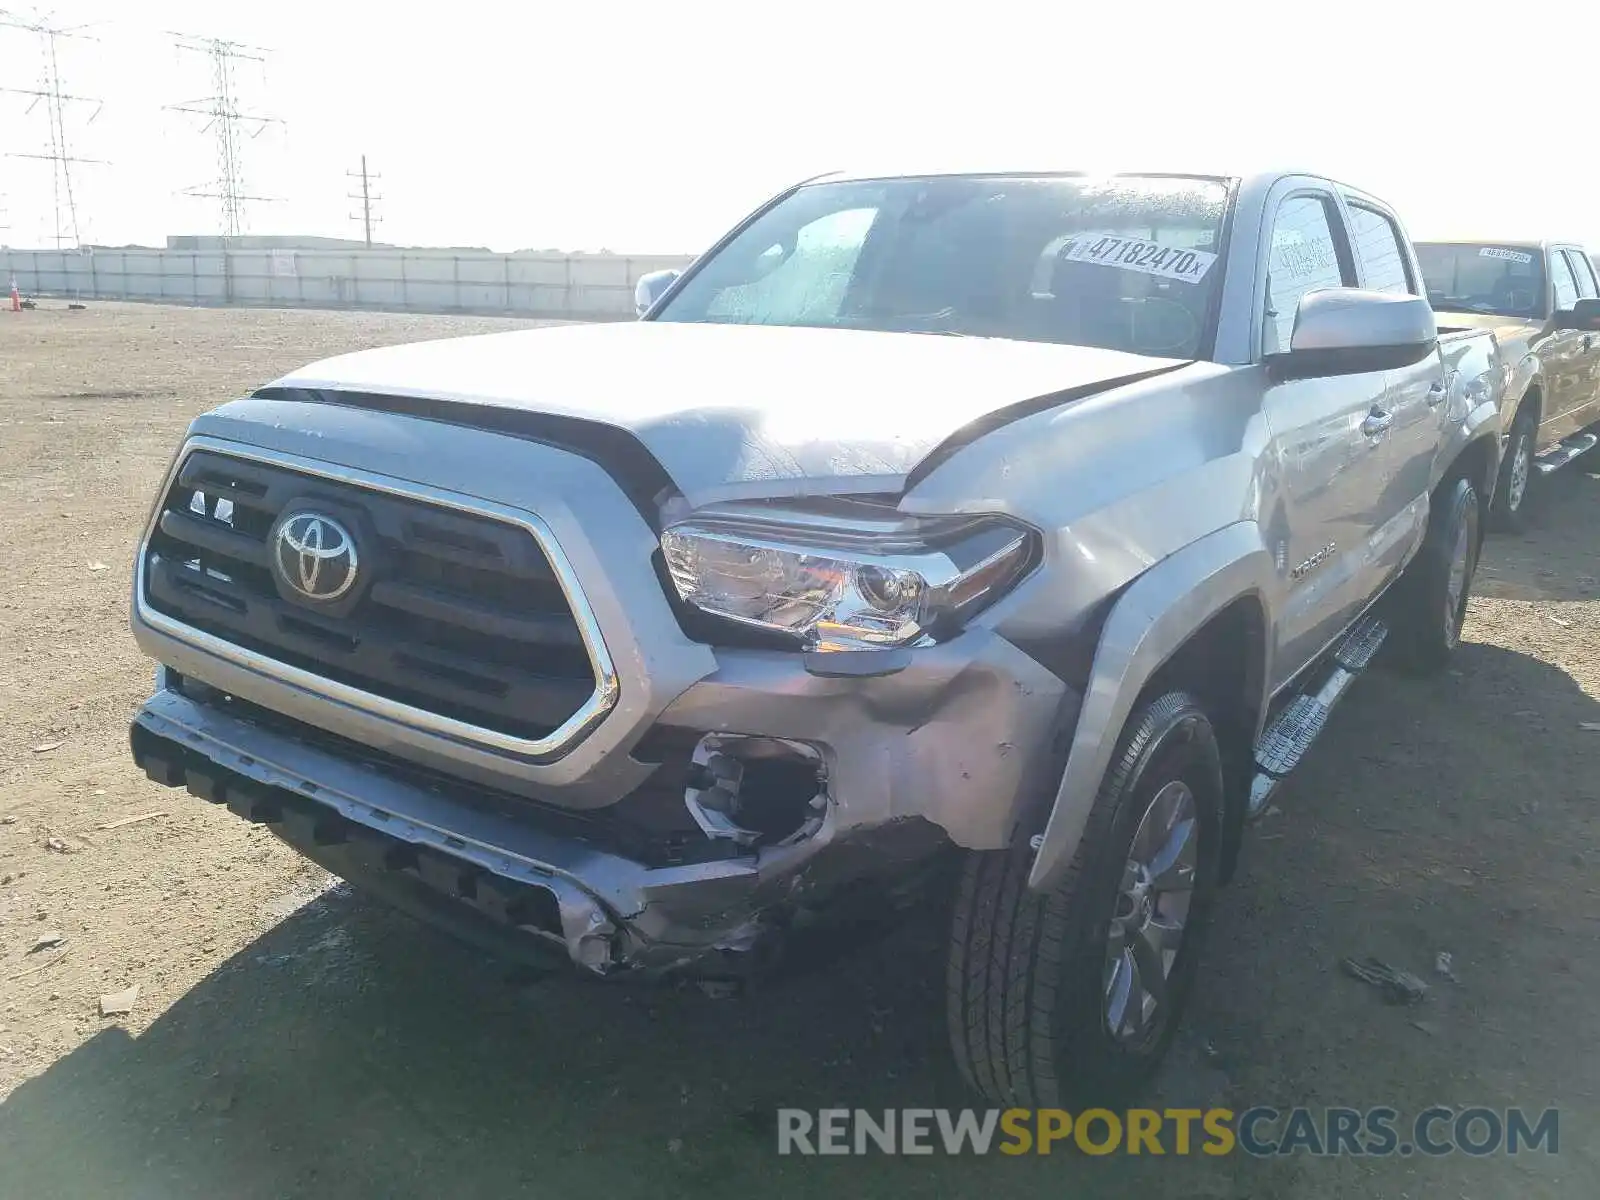
[[[286,509],[355,533],[360,586],[296,600],[272,570]],[[154,611],[350,688],[520,739],[547,738],[594,694],[555,568],[518,525],[197,450],[144,549]]]

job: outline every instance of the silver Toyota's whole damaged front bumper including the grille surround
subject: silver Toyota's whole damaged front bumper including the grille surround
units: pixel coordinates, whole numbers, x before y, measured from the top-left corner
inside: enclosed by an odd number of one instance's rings
[[[413,478],[424,445],[427,485]],[[584,454],[286,400],[229,405],[197,421],[186,446],[234,466],[205,467],[184,499],[173,491],[179,456],[152,509],[131,627],[163,666],[133,722],[134,757],[154,779],[267,824],[418,915],[462,934],[483,925],[602,974],[670,971],[723,950],[758,958],[749,952],[840,894],[899,899],[901,882],[946,843],[1000,850],[1024,824],[1042,826],[1080,698],[995,621],[1032,589],[1054,594],[1048,560],[933,645],[837,654],[710,645],[685,630],[662,587],[653,526]],[[176,539],[174,562],[200,554],[182,562],[211,578],[186,522],[203,501],[198,483],[221,472],[234,488],[230,470],[258,472],[267,491],[333,490],[358,515],[371,515],[373,496],[400,498],[533,536],[579,640],[605,651],[590,654],[590,674],[606,712],[558,746],[534,746],[451,715],[467,704],[461,688],[419,699],[349,664],[334,680],[304,629],[298,642],[274,635],[253,648],[226,622],[206,632],[182,605],[160,608],[147,579],[155,539]],[[275,520],[288,501],[262,502]],[[168,517],[182,538],[163,530]],[[224,582],[240,563],[259,570],[258,539],[242,549],[232,518],[208,520],[198,530],[224,539]],[[483,538],[501,546],[499,533]],[[442,571],[450,560],[427,562]],[[411,603],[416,587],[427,598],[430,576],[413,584]],[[248,589],[208,595],[186,603],[275,605]],[[470,589],[459,598],[470,603]],[[360,645],[360,622],[331,632],[341,654]],[[448,648],[464,632],[440,635],[424,674],[448,677]],[[493,670],[480,675],[474,688],[496,683]]]

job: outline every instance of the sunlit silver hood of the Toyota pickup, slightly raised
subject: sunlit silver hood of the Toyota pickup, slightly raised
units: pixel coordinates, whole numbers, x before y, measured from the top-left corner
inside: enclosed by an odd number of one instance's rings
[[[918,462],[1005,421],[1184,366],[1082,346],[914,333],[627,322],[413,342],[312,363],[259,395],[416,398],[632,434],[693,506],[901,491]],[[498,424],[504,424],[499,421]]]

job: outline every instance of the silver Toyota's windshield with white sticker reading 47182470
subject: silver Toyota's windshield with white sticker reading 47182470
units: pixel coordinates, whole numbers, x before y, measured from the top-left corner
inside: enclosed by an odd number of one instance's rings
[[[664,322],[813,325],[1202,357],[1227,186],[1152,176],[810,184],[686,278]]]

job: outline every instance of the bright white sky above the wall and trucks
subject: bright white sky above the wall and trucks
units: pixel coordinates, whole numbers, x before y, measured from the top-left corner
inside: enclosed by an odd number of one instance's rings
[[[58,40],[83,242],[214,234],[213,94],[173,32],[267,48],[235,66],[246,232],[355,237],[347,178],[381,178],[374,237],[406,245],[694,253],[794,181],[971,157],[1227,173],[1298,166],[1370,190],[1413,237],[1600,246],[1582,93],[1600,5],[1421,0],[0,0],[86,26]],[[1435,16],[1437,13],[1437,16]],[[1515,22],[1499,14],[1515,13]],[[1570,53],[1570,58],[1563,59]],[[0,27],[0,86],[40,38]],[[0,93],[0,155],[48,146]],[[1565,131],[1565,133],[1563,133]],[[0,243],[54,243],[51,165],[0,157]],[[70,237],[70,232],[69,232]]]

